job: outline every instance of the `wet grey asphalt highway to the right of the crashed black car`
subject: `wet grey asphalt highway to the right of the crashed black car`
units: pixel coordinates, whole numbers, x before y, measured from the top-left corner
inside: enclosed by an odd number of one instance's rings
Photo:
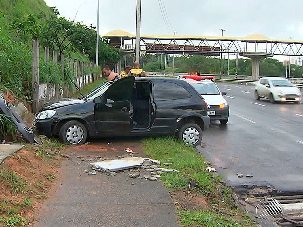
[[[212,122],[198,149],[239,192],[250,186],[303,192],[303,96],[300,104],[272,104],[255,100],[253,86],[217,85],[227,92],[229,121]]]

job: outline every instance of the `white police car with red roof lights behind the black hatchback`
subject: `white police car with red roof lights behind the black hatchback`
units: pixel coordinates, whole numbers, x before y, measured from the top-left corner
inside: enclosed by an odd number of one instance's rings
[[[221,92],[213,76],[180,75],[178,79],[185,80],[191,84],[207,103],[207,114],[211,121],[219,120],[221,124],[227,124],[229,117],[229,106],[224,99],[226,92]]]

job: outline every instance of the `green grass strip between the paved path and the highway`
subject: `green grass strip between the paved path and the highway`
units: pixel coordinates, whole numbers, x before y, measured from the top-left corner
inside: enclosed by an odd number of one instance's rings
[[[164,168],[176,169],[177,174],[163,173],[160,180],[169,191],[186,191],[190,182],[195,187],[190,191],[203,195],[210,205],[216,204],[217,210],[201,208],[179,210],[179,220],[190,227],[252,227],[254,223],[246,213],[236,209],[231,189],[221,183],[222,177],[206,171],[205,159],[195,147],[188,146],[174,137],[157,137],[143,140],[145,154],[160,162],[172,162]],[[224,201],[224,202],[222,202]]]

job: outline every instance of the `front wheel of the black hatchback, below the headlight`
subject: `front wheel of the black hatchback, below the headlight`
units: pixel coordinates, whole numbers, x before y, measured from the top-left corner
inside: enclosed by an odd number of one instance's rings
[[[87,129],[79,121],[69,121],[59,131],[60,141],[72,145],[83,144],[87,139]]]

